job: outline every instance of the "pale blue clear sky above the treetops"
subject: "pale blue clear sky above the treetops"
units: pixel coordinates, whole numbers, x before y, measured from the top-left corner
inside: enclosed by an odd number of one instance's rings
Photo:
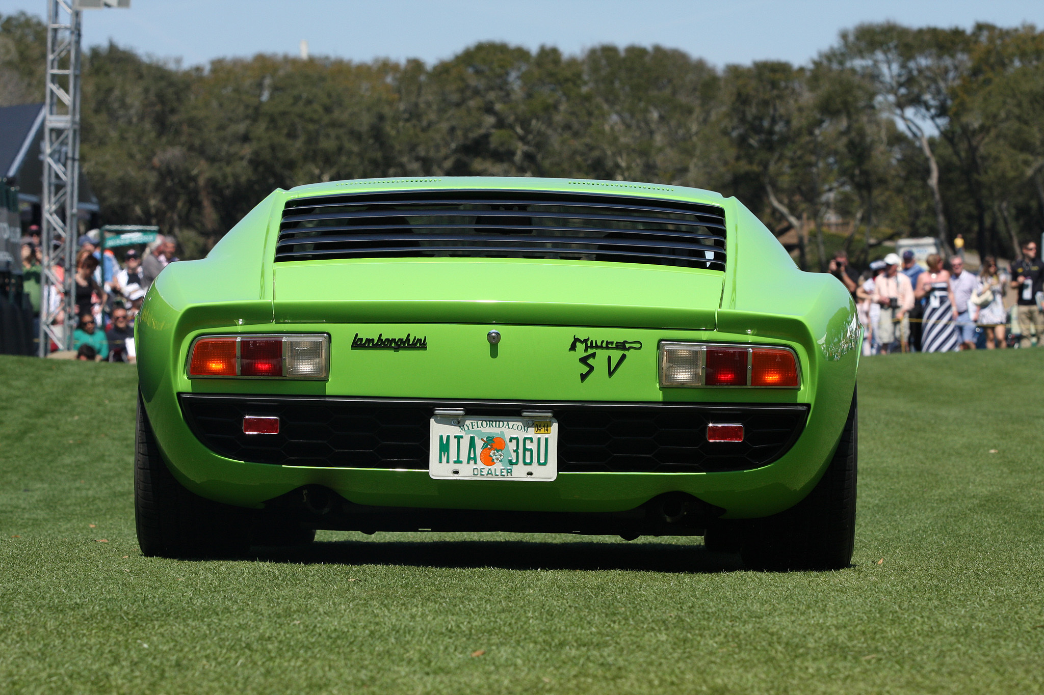
[[[0,14],[43,15],[45,0],[0,0]],[[991,0],[132,0],[85,11],[85,45],[110,39],[140,52],[206,64],[221,56],[298,54],[354,60],[446,58],[478,41],[576,53],[602,43],[660,44],[722,66],[805,63],[859,22],[1044,26],[1044,2]]]

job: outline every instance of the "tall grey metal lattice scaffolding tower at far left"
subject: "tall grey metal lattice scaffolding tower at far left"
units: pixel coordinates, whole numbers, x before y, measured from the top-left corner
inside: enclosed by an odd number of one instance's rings
[[[47,0],[47,92],[44,96],[44,187],[40,242],[40,356],[53,341],[72,347],[75,253],[79,235],[79,30],[73,0]],[[61,270],[60,270],[61,269]],[[56,292],[61,288],[62,292]]]

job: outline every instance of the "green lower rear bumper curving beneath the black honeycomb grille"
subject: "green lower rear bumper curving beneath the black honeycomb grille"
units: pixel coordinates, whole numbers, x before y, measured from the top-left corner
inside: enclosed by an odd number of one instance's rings
[[[722,409],[717,404],[712,407]],[[764,405],[756,407],[763,411]],[[722,511],[714,516],[763,517],[792,506],[811,490],[833,453],[838,432],[829,419],[827,423],[817,421],[811,407],[789,448],[757,468],[682,473],[563,470],[553,481],[524,485],[490,479],[435,480],[426,467],[248,463],[221,455],[204,444],[189,424],[191,418],[183,417],[177,399],[156,399],[146,409],[152,422],[161,419],[161,426],[155,427],[157,442],[183,485],[205,497],[248,507],[263,507],[300,488],[321,486],[356,505],[535,513],[625,513],[664,495],[683,493]]]

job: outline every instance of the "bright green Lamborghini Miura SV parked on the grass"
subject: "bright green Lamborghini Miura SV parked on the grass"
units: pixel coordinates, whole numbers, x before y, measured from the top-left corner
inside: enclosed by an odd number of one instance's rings
[[[277,190],[136,325],[148,555],[315,529],[703,536],[849,565],[855,306],[735,198],[541,178]]]

